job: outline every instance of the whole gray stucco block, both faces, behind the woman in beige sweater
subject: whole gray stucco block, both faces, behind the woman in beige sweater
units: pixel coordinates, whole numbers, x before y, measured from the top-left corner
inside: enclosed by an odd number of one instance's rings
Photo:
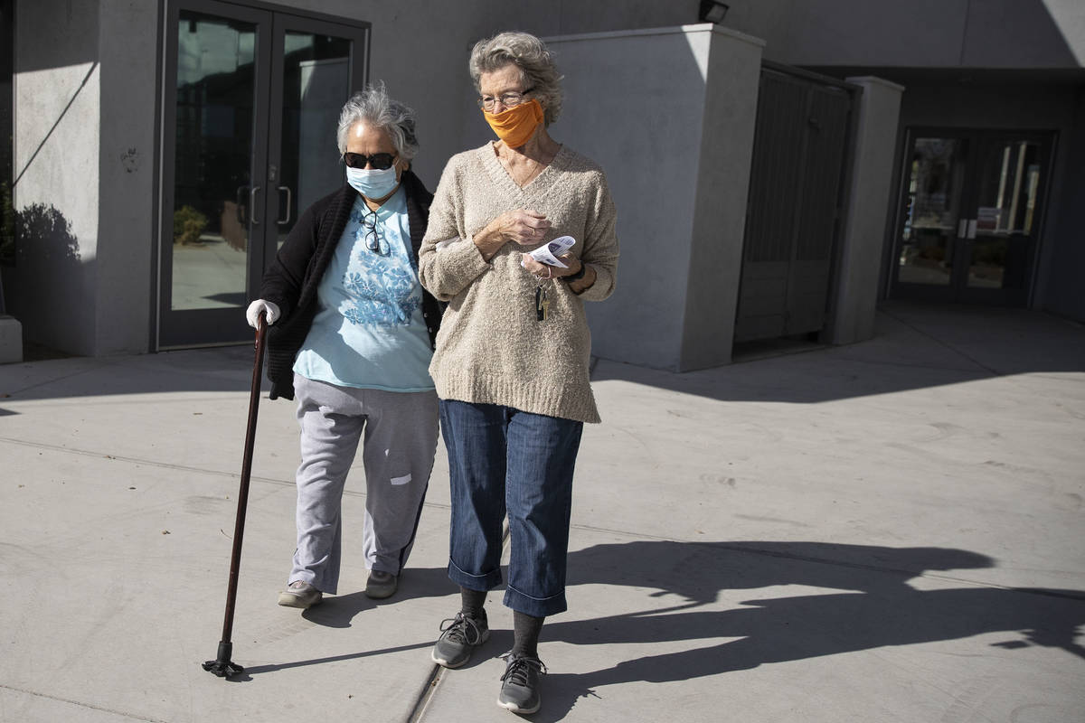
[[[547,38],[564,74],[551,134],[607,171],[617,291],[592,351],[684,370],[727,363],[762,42],[711,24]]]

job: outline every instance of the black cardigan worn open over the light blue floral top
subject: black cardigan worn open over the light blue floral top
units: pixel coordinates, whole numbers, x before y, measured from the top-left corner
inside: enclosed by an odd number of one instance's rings
[[[425,235],[433,194],[409,170],[404,171],[400,183],[407,193],[407,222],[417,269],[418,249]],[[331,263],[357,198],[358,192],[344,184],[309,206],[264,274],[260,298],[276,304],[282,312],[282,317],[268,327],[267,372],[271,380],[271,399],[294,398],[294,358],[312,325],[317,313],[317,286]],[[423,288],[422,318],[430,332],[431,346],[437,338],[442,311],[443,305]]]

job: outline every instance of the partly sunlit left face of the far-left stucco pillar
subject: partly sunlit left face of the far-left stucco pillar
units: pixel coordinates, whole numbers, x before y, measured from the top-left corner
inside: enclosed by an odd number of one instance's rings
[[[97,350],[98,2],[20,3],[13,206],[21,234],[4,275],[9,312],[30,340]],[[34,41],[28,41],[34,39]]]

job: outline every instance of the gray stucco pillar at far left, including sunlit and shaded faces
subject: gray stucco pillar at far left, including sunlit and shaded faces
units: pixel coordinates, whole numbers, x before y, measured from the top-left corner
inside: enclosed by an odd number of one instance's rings
[[[18,5],[14,206],[29,228],[4,279],[31,341],[148,349],[157,16],[137,0]]]

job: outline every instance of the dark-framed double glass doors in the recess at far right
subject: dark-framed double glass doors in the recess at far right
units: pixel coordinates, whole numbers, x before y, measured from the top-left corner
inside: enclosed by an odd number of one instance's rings
[[[909,129],[907,142],[891,296],[1025,306],[1050,134]]]

